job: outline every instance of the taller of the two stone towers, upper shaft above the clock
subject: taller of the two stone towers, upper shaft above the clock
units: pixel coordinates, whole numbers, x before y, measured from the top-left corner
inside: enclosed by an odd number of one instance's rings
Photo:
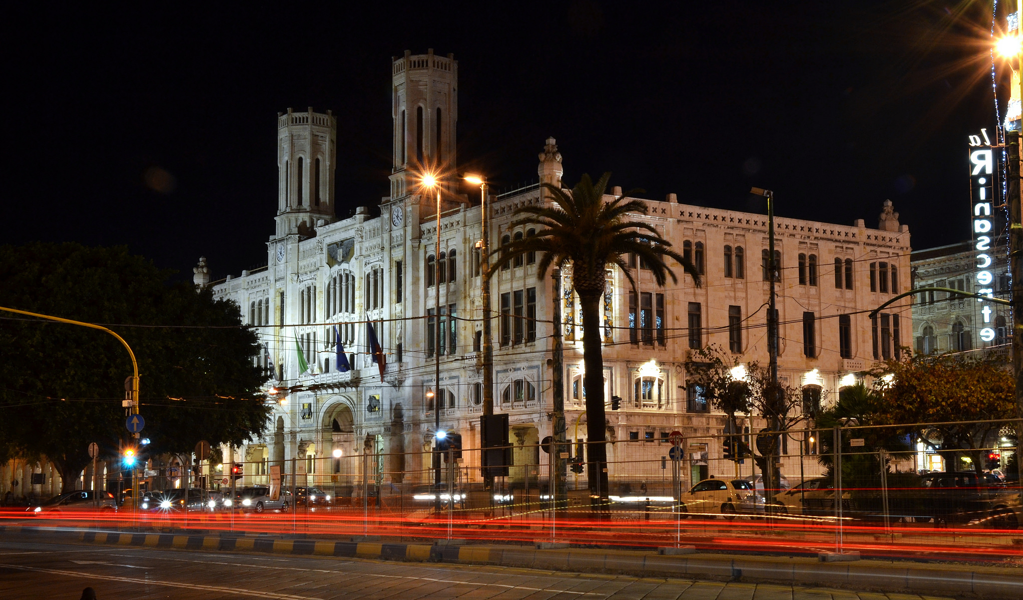
[[[458,62],[454,54],[392,59],[394,161],[391,198],[417,194],[421,173],[438,173],[444,188],[455,188],[455,125],[458,121]]]

